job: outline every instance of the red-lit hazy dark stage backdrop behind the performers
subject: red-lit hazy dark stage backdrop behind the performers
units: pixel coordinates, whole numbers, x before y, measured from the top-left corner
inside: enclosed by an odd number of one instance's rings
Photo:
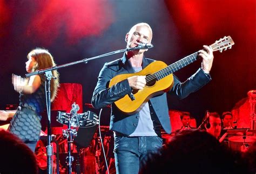
[[[125,48],[125,34],[146,22],[153,30],[154,48],[145,55],[167,64],[231,35],[232,49],[214,53],[212,81],[186,99],[169,97],[170,109],[191,112],[199,121],[206,110],[231,111],[256,89],[255,6],[254,0],[0,1],[0,107],[18,104],[11,74],[24,76],[31,49],[44,47],[57,64],[69,63]],[[83,103],[90,103],[104,62],[121,56],[60,69],[60,82],[81,83]],[[200,63],[175,74],[185,81]]]

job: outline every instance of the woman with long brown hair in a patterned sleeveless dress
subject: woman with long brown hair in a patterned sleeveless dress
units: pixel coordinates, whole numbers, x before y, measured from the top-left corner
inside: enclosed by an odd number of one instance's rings
[[[28,73],[56,66],[52,55],[43,48],[31,50],[27,58],[25,68]],[[52,75],[57,79],[51,79],[51,102],[59,86],[58,72],[54,70]],[[0,119],[8,120],[13,117],[8,130],[25,142],[32,151],[35,151],[41,132],[41,113],[46,104],[44,74],[33,75],[29,78],[13,75],[12,84],[15,91],[19,92],[19,107],[12,112],[0,111]]]

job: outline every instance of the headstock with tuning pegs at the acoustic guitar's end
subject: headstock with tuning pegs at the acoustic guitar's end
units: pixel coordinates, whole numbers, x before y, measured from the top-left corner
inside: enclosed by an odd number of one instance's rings
[[[234,41],[230,36],[228,36],[215,41],[215,43],[210,47],[212,48],[213,52],[219,50],[221,53],[223,50],[227,50],[227,48],[231,49],[232,45],[234,45]]]

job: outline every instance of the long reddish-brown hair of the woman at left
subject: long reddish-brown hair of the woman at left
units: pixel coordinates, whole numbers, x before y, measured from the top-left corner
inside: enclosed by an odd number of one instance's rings
[[[36,48],[31,50],[27,57],[28,59],[29,57],[33,57],[37,61],[37,64],[32,68],[32,72],[56,66],[52,55],[49,53],[47,49],[44,48]],[[51,79],[51,102],[55,99],[59,87],[58,71],[53,70],[52,76],[56,77],[56,79]],[[45,78],[43,76],[41,76],[41,81],[45,81]]]

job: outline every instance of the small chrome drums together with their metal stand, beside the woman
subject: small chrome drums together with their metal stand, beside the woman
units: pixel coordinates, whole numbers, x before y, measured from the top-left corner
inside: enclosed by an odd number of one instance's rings
[[[63,136],[66,137],[66,139],[68,140],[68,156],[66,157],[66,164],[69,168],[68,173],[72,172],[71,165],[74,160],[73,156],[71,156],[71,143],[73,143],[74,140],[76,142],[76,137],[79,136],[80,128],[94,128],[99,123],[98,116],[95,113],[87,111],[85,113],[78,114],[77,111],[79,111],[79,106],[74,102],[72,104],[72,109],[70,113],[58,112],[57,116],[58,122],[64,125],[68,125],[68,129],[62,130]],[[74,129],[72,129],[71,127],[73,127]],[[83,139],[84,138],[85,137],[83,136]],[[90,141],[91,139],[89,140],[89,142]],[[79,148],[79,143],[77,145]]]

